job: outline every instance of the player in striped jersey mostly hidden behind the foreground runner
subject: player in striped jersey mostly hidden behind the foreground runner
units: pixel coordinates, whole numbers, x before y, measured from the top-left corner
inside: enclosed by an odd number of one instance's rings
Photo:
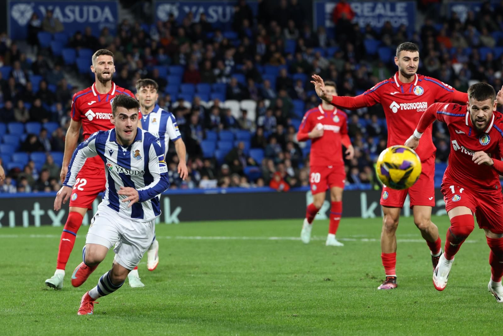
[[[140,79],[136,82],[136,98],[140,102],[142,127],[160,139],[164,157],[166,157],[170,139],[175,143],[175,149],[180,159],[178,173],[182,179],[185,179],[188,175],[185,144],[178,129],[175,116],[157,105],[158,89],[159,85],[152,79]],[[154,237],[154,242],[147,251],[147,268],[149,271],[153,271],[159,263],[158,251],[159,243]],[[139,281],[137,274],[134,274],[134,271],[136,270],[137,272],[137,269],[138,266],[128,275],[130,284]]]

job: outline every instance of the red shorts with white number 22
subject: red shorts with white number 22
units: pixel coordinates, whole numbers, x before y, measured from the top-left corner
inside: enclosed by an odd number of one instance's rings
[[[75,179],[70,196],[70,206],[92,209],[96,196],[105,191],[106,182],[105,169],[90,168],[84,165]]]

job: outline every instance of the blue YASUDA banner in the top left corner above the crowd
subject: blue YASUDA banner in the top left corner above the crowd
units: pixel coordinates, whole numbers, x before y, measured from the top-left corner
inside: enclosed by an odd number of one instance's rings
[[[111,34],[115,34],[119,23],[115,1],[11,1],[8,10],[9,36],[14,40],[26,39],[28,23],[33,13],[42,21],[47,10],[52,10],[54,18],[63,24],[64,32],[69,36],[76,31],[83,33],[88,26],[96,36],[105,27],[110,29]]]

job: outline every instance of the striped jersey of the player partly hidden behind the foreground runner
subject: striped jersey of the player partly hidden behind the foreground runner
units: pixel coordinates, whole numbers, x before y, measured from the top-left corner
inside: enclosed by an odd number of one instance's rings
[[[181,137],[175,116],[157,104],[148,115],[142,115],[141,127],[160,139],[163,153],[166,155],[170,139],[175,142]]]

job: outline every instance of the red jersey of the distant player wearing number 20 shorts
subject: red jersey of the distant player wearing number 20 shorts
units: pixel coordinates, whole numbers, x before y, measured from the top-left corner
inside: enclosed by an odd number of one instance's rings
[[[321,105],[306,112],[299,134],[311,132],[316,125],[323,127],[323,136],[311,139],[311,166],[344,165],[342,137],[348,137],[348,116],[338,109],[324,110]],[[349,142],[349,137],[348,137]]]

